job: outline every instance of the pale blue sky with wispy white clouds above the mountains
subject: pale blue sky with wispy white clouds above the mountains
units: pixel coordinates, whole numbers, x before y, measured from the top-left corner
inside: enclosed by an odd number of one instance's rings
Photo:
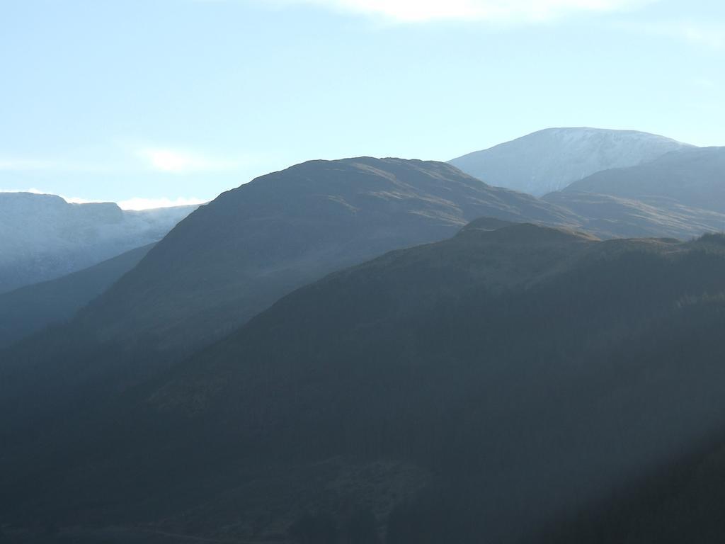
[[[725,145],[722,0],[0,0],[0,190],[204,202],[552,126]]]

